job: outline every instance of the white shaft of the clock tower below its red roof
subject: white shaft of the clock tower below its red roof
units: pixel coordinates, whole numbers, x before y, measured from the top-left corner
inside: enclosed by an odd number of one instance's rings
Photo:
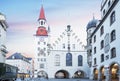
[[[35,58],[34,58],[34,69],[35,69],[35,77],[37,77],[40,71],[47,71],[46,59],[47,59],[47,44],[48,38],[47,37],[35,37]],[[39,42],[39,44],[38,44]],[[44,53],[41,52],[43,50]],[[44,55],[42,55],[44,54]],[[40,64],[44,64],[44,68],[40,68]]]

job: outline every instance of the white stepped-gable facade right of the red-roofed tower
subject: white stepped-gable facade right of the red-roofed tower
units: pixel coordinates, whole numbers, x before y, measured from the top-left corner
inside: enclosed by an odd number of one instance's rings
[[[50,54],[47,57],[48,59],[48,75],[50,78],[57,78],[58,73],[67,72],[67,78],[88,78],[89,68],[87,65],[87,54],[80,43],[79,37],[74,35],[74,32],[70,33],[70,51],[68,50],[68,33],[64,31],[63,35],[60,35],[60,40],[57,39],[53,48],[50,50]],[[66,64],[67,62],[67,54],[72,54],[72,65]],[[82,57],[79,60],[79,56]],[[69,61],[69,60],[68,60]],[[80,65],[79,65],[80,63]],[[78,76],[77,72],[81,72],[81,75]],[[59,78],[59,77],[58,77]]]

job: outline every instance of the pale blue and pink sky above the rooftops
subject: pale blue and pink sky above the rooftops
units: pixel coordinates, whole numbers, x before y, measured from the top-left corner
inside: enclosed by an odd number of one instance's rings
[[[51,36],[59,36],[67,25],[71,25],[83,44],[86,44],[86,26],[93,15],[101,19],[101,0],[0,0],[0,12],[6,16],[6,47],[8,55],[22,53],[34,57],[34,39],[38,18],[44,7]]]

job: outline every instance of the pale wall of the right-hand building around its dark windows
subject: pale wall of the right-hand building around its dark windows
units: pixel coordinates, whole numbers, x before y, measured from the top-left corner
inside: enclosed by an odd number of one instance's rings
[[[111,7],[108,7],[108,1],[111,1]],[[95,32],[92,34],[92,67],[91,67],[91,73],[90,73],[90,78],[93,79],[94,78],[94,70],[98,69],[98,79],[100,78],[100,69],[102,66],[105,67],[105,71],[106,71],[106,67],[110,68],[110,66],[113,63],[117,63],[119,65],[119,50],[120,50],[120,45],[119,45],[119,36],[120,36],[120,16],[119,16],[119,12],[120,12],[120,1],[119,0],[108,0],[106,1],[105,6],[103,6],[103,8],[101,9],[101,22],[100,24],[98,24],[97,28],[95,29]],[[112,4],[112,1],[115,1],[114,4]],[[103,15],[103,11],[104,9],[106,10],[106,13]],[[113,24],[110,24],[110,16],[112,14],[112,12],[115,11],[115,22]],[[101,27],[104,27],[104,34],[100,35],[100,29]],[[116,31],[116,39],[114,41],[111,42],[111,32],[115,30]],[[107,41],[105,41],[105,36],[108,34],[108,38]],[[96,35],[96,42],[94,42],[94,36]],[[104,48],[101,49],[100,47],[100,43],[101,41],[104,40]],[[109,40],[109,41],[108,41]],[[105,43],[108,43],[109,47],[108,47],[108,52],[105,52],[106,47],[105,47]],[[96,53],[94,54],[94,47],[96,47]],[[116,57],[115,58],[111,58],[111,49],[115,47],[116,48]],[[101,62],[101,54],[104,54],[104,61]],[[94,64],[94,58],[97,59],[97,63]],[[120,66],[119,66],[120,67]],[[110,70],[110,69],[109,69]],[[104,73],[105,74],[105,73]],[[106,76],[106,74],[105,74]]]

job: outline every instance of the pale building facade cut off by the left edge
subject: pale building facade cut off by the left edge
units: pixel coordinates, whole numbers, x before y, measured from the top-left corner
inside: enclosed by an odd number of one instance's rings
[[[5,21],[5,16],[0,13],[0,62],[5,63],[6,50],[6,29],[7,23]]]

